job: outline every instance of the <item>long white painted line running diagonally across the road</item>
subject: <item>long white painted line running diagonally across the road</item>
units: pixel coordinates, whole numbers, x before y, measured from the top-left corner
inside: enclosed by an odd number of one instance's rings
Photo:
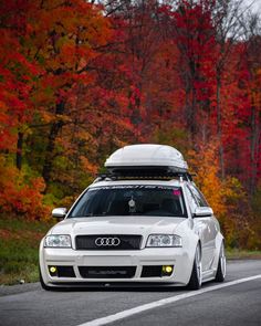
[[[94,319],[94,320],[91,320],[91,322],[86,322],[86,323],[81,324],[79,326],[101,326],[101,325],[106,325],[108,323],[113,323],[113,322],[129,317],[132,315],[143,313],[143,312],[146,312],[146,311],[149,311],[149,309],[153,309],[153,308],[161,307],[164,305],[168,305],[168,304],[175,303],[175,302],[180,301],[180,299],[185,299],[185,298],[192,297],[192,296],[196,296],[196,295],[200,295],[200,294],[203,294],[203,293],[207,293],[207,292],[220,290],[220,288],[223,288],[223,287],[237,285],[237,284],[240,284],[240,283],[244,283],[244,282],[249,282],[249,281],[253,281],[253,280],[258,280],[258,278],[261,278],[261,274],[250,276],[250,277],[246,277],[246,278],[231,281],[231,282],[228,282],[228,283],[222,283],[220,285],[209,286],[209,287],[201,288],[201,290],[198,290],[198,291],[192,291],[192,292],[170,296],[170,297],[167,297],[167,298],[163,298],[163,299],[159,299],[159,301],[152,302],[149,304],[137,306],[137,307],[132,308],[132,309],[123,311],[123,312],[114,314],[114,315],[109,315],[109,316],[106,316],[106,317],[102,317],[102,318],[97,318],[97,319]]]

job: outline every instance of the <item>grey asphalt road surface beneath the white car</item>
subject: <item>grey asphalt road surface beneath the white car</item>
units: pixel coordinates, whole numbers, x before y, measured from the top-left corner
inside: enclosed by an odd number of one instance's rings
[[[203,284],[198,294],[186,288],[45,292],[39,283],[0,286],[0,325],[94,326],[102,324],[93,320],[112,317],[111,325],[118,326],[260,326],[261,277],[236,282],[254,275],[261,276],[261,260],[230,261],[226,282]],[[125,318],[112,316],[117,313]]]

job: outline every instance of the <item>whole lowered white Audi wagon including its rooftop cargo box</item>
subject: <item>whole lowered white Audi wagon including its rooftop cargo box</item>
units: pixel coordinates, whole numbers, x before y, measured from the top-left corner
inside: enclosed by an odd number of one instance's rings
[[[174,285],[226,276],[225,240],[182,155],[163,145],[115,151],[40,244],[44,290]]]

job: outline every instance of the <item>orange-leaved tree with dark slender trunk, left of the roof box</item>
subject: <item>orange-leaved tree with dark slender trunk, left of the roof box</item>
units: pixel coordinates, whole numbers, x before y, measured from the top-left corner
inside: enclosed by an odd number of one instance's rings
[[[88,65],[98,55],[98,48],[105,44],[108,30],[101,10],[82,0],[39,1],[29,20],[32,25],[27,40],[30,56],[45,70],[35,96],[49,106],[50,128],[42,170],[49,183],[56,138],[63,126],[71,124],[70,111],[73,108],[69,99],[74,96],[75,84],[91,85],[94,82],[95,75],[88,71]],[[44,95],[48,95],[49,103],[44,104]]]

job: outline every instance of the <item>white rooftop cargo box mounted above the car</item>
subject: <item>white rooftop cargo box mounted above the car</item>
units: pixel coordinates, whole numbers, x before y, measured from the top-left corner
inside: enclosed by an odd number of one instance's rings
[[[188,165],[180,151],[167,145],[130,145],[114,151],[105,162],[108,170],[167,169],[186,172]]]

